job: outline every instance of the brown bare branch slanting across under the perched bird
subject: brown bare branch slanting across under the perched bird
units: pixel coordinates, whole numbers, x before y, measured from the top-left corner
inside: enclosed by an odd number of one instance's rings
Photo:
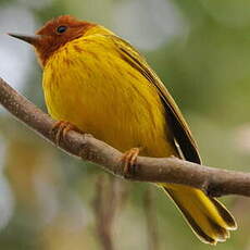
[[[43,113],[0,78],[0,103],[29,128],[54,143],[51,129],[55,124]],[[121,164],[122,153],[93,138],[68,132],[60,148],[70,154],[95,162],[107,171],[125,177]],[[126,176],[133,180],[153,183],[175,183],[200,188],[210,196],[241,195],[250,197],[250,173],[201,166],[176,158],[139,157],[134,173]]]

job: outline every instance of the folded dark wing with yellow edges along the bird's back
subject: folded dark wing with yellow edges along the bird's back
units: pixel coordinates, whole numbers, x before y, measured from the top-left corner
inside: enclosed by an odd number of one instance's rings
[[[157,87],[167,115],[171,117],[174,138],[179,145],[185,159],[191,162],[201,163],[197,143],[191,135],[191,132],[180,110],[161,79],[150,68],[145,58],[128,42],[113,35],[109,35],[108,37],[114,42],[115,47],[118,48],[120,55]]]

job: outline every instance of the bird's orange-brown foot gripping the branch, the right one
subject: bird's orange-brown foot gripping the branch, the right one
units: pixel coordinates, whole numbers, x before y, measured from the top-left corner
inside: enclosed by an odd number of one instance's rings
[[[124,177],[129,177],[135,174],[136,160],[140,152],[140,148],[132,148],[126,151],[122,157]]]

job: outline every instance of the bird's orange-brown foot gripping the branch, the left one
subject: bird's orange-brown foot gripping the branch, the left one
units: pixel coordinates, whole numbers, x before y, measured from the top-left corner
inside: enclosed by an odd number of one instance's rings
[[[67,132],[75,130],[80,132],[75,125],[66,121],[58,121],[51,129],[51,135],[54,138],[55,145],[59,145],[60,140],[65,139]]]

